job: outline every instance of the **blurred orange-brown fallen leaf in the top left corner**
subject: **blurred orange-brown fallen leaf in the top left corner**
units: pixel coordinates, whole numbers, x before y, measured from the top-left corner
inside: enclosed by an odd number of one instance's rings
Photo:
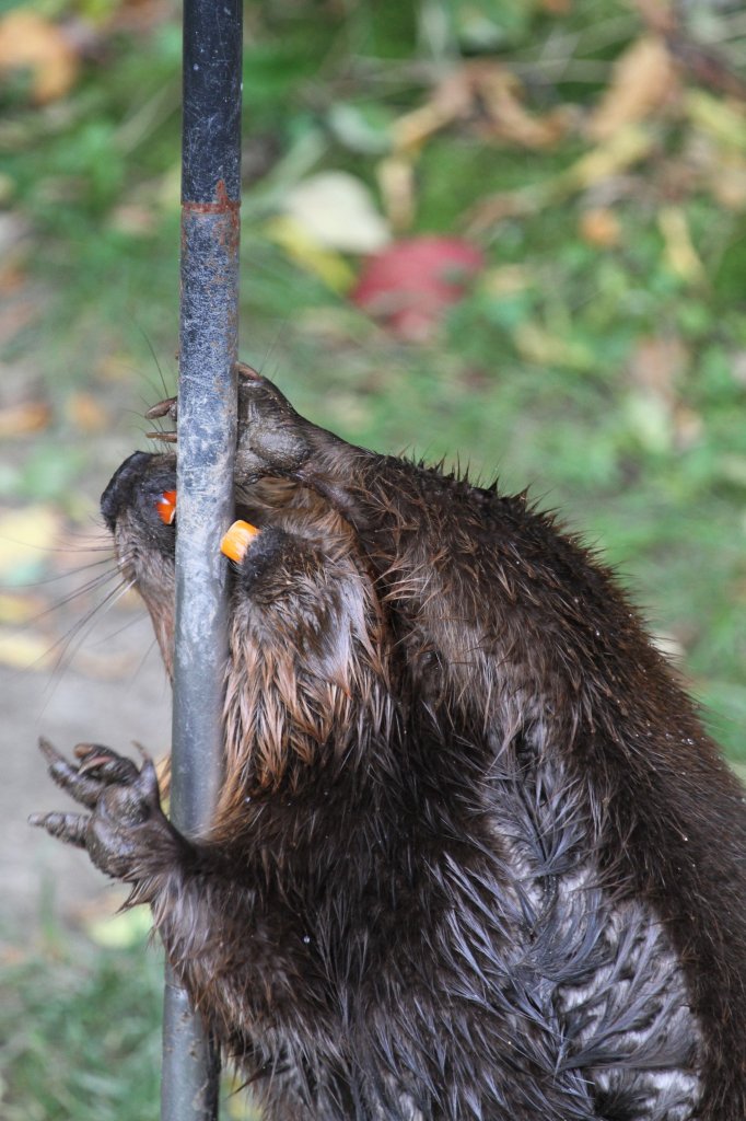
[[[0,73],[31,72],[38,104],[64,98],[75,84],[78,58],[64,31],[30,8],[16,8],[0,19]]]

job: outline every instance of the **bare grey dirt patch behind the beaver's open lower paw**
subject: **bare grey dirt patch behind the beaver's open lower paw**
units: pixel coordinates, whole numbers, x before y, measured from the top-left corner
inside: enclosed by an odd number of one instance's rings
[[[128,751],[138,741],[159,756],[170,741],[170,687],[150,621],[131,602],[99,621],[58,676],[0,668],[0,929],[12,943],[49,912],[76,926],[94,899],[112,895],[84,853],[27,824],[35,810],[72,808],[46,776],[39,735],[62,750],[92,741]]]

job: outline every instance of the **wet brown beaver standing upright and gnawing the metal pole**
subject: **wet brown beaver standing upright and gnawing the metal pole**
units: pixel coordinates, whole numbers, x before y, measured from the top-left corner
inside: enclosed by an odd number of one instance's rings
[[[613,574],[248,368],[240,417],[211,832],[95,744],[44,744],[87,813],[35,824],[151,906],[268,1119],[743,1121],[744,795]],[[102,498],[169,670],[175,462]]]

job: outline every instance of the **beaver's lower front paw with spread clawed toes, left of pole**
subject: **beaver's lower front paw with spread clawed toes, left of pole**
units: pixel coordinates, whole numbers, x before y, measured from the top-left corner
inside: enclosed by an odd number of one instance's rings
[[[150,759],[138,770],[109,748],[81,743],[74,765],[47,740],[39,740],[39,747],[52,779],[91,813],[34,814],[31,825],[86,849],[96,868],[128,882],[147,879],[188,849],[160,807]]]

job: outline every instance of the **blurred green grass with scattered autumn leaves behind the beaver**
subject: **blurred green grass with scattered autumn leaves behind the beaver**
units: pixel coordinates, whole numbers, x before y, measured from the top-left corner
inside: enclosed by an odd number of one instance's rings
[[[174,386],[180,12],[0,12],[0,663],[44,671],[54,617],[24,624],[45,593],[8,590],[59,562],[8,543],[90,525]],[[736,765],[745,65],[728,0],[245,6],[243,359],[355,443],[458,456],[560,508]],[[3,964],[20,1004],[0,1036],[36,1010],[2,1053],[3,1115],[155,1115],[155,972],[133,1003],[127,954],[83,971],[45,937],[52,966]],[[121,1008],[113,1041],[99,1001]]]

